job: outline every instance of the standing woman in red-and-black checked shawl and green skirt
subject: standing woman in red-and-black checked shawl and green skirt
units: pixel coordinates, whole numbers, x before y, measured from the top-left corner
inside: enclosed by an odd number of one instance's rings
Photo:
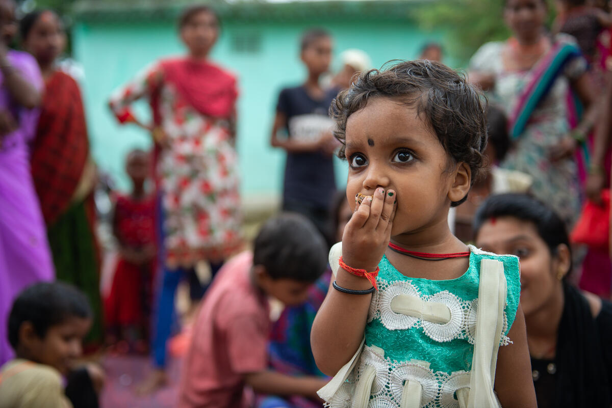
[[[20,34],[24,48],[37,60],[45,80],[30,162],[56,276],[88,296],[94,309],[94,324],[87,340],[99,343],[102,303],[94,236],[95,165],[89,156],[81,92],[76,81],[56,65],[64,52],[65,34],[55,13],[29,13],[21,20]]]

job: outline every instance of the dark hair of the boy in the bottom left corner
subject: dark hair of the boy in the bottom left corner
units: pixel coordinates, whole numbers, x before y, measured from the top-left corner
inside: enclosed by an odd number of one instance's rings
[[[51,326],[75,317],[92,317],[89,301],[81,291],[62,282],[35,283],[23,290],[13,302],[7,327],[9,343],[17,349],[19,329],[24,322],[31,322],[36,334],[45,338]]]

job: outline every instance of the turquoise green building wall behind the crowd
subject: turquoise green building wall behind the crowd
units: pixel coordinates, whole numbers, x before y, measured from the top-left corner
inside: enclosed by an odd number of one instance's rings
[[[300,33],[312,26],[324,26],[332,32],[336,56],[343,49],[360,48],[370,55],[375,67],[390,59],[414,58],[425,42],[442,37],[441,33],[422,33],[411,24],[397,21],[333,24],[224,21],[212,59],[233,70],[239,78],[237,148],[245,197],[276,197],[280,193],[284,155],[269,147],[269,131],[279,90],[305,78],[298,42]],[[170,21],[81,22],[74,26],[72,34],[75,59],[85,71],[83,93],[94,158],[125,189],[129,186],[123,171],[125,153],[133,147],[147,147],[150,142],[141,129],[116,123],[106,106],[108,95],[152,61],[182,53],[181,42]],[[243,40],[259,38],[259,50],[237,50],[236,36]],[[336,68],[338,62],[332,65]],[[146,103],[140,103],[136,111],[148,115]],[[336,164],[338,185],[343,186],[346,163],[337,160]]]

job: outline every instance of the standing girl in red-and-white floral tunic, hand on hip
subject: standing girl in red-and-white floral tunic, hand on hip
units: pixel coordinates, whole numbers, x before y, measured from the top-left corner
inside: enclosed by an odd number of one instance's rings
[[[187,56],[152,64],[110,100],[119,122],[152,131],[156,148],[163,271],[153,338],[157,370],[142,392],[165,382],[166,342],[182,276],[194,276],[200,260],[211,262],[214,275],[242,243],[234,148],[236,78],[208,57],[219,20],[209,7],[195,5],[182,13],[179,29]],[[152,126],[130,111],[140,98],[151,104]]]

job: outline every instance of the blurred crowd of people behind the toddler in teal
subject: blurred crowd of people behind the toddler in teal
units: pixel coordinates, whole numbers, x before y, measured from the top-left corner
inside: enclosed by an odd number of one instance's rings
[[[538,406],[610,407],[612,13],[557,0],[548,27],[545,0],[504,4],[491,18],[511,37],[482,45],[465,75],[486,106],[483,176],[465,202],[447,203],[447,224],[466,244],[520,259]],[[323,406],[317,391],[330,377],[311,330],[334,280],[327,254],[359,208],[335,183],[333,156],[349,150],[337,137],[348,127],[338,100],[379,74],[367,54],[346,49],[329,73],[332,35],[313,28],[296,39],[307,77],[278,93],[269,140],[286,153],[281,214],[249,239],[237,79],[208,57],[221,23],[214,9],[181,13],[184,56],[109,90],[118,122],[154,142],[125,157],[129,192],[92,160],[80,86],[58,64],[61,16],[16,12],[0,0],[0,408],[100,406],[104,355],[150,355],[153,370],[134,392],[154,393],[168,383],[176,332],[185,340],[176,406]],[[428,43],[420,60],[442,67],[443,51]],[[132,110],[137,100],[149,103],[151,123]],[[346,159],[354,169],[360,157]],[[191,307],[179,313],[185,284]]]

